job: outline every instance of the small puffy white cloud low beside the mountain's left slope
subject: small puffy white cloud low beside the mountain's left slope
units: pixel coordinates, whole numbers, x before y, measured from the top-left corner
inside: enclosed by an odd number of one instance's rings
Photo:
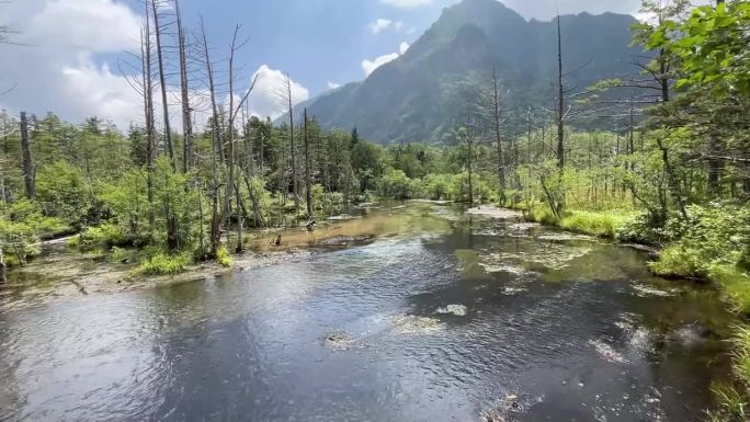
[[[259,117],[276,118],[284,114],[287,109],[286,76],[281,70],[271,69],[268,65],[261,65],[255,71],[258,77],[255,88],[248,99],[250,113]],[[310,93],[298,82],[292,80],[292,104],[297,105],[310,98]]]

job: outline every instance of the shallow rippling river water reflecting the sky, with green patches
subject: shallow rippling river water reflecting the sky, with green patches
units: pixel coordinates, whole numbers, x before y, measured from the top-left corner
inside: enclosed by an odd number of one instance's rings
[[[727,374],[718,295],[634,249],[429,204],[322,232],[190,283],[0,286],[0,420],[682,422]]]

